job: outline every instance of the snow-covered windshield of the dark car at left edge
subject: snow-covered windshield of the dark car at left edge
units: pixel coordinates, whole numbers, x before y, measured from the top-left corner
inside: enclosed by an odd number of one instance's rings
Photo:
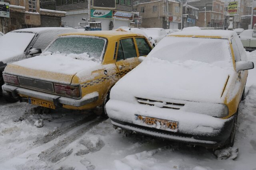
[[[9,32],[0,39],[0,51],[25,51],[28,44],[35,36],[35,33]]]

